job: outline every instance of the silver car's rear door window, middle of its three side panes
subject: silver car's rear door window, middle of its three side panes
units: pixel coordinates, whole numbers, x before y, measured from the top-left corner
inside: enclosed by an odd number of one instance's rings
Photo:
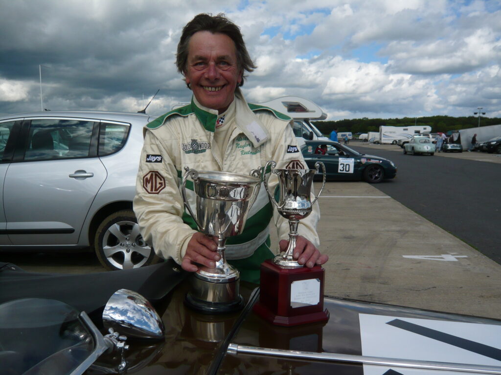
[[[25,160],[89,156],[94,123],[78,119],[32,120]]]

